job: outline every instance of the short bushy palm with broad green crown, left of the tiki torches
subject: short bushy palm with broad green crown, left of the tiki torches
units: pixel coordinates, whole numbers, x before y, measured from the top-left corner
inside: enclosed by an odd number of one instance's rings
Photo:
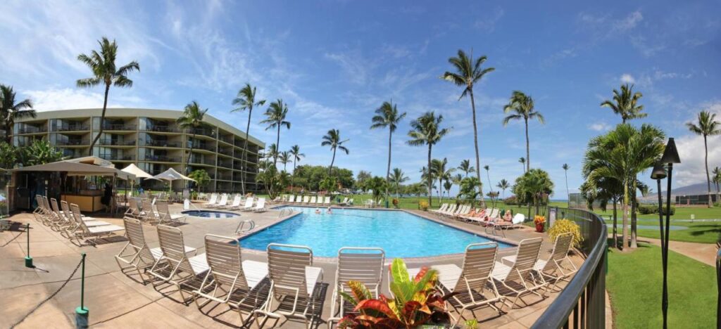
[[[602,179],[615,179],[622,185],[624,250],[629,245],[629,204],[632,199],[635,200],[634,195],[639,186],[636,176],[658,161],[663,153],[664,137],[663,132],[652,125],[645,124],[639,129],[621,124],[588,143],[583,163],[583,173],[590,185],[588,189],[595,189],[595,184]],[[635,233],[632,230],[632,242],[634,240]],[[631,244],[632,248],[634,245]]]

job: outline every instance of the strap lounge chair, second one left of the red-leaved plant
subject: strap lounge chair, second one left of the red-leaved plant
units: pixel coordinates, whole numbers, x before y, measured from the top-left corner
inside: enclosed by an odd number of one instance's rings
[[[265,307],[256,310],[257,315],[278,319],[286,318],[304,320],[306,328],[313,317],[319,317],[322,310],[316,308],[314,294],[316,284],[323,280],[323,269],[313,266],[313,251],[303,245],[267,245],[268,276],[270,292]],[[273,307],[278,297],[277,308]],[[260,327],[260,317],[255,317]]]

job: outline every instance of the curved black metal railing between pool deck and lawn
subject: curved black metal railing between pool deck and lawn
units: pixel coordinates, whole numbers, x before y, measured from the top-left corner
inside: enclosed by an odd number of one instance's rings
[[[582,209],[551,207],[557,218],[572,220],[580,227],[586,258],[573,279],[547,307],[532,328],[605,328],[608,233],[601,217]]]

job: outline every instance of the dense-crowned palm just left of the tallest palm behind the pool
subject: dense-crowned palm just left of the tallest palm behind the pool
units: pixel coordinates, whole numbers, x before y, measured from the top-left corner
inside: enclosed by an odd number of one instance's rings
[[[428,167],[430,168],[430,153],[433,150],[433,145],[441,141],[441,138],[448,134],[450,129],[442,128],[441,122],[443,122],[443,115],[435,116],[434,112],[426,112],[425,114],[418,117],[416,120],[410,122],[412,130],[408,132],[408,140],[406,143],[411,146],[428,145]],[[426,181],[428,183],[428,207],[431,207],[433,200],[431,199],[431,191],[433,191],[433,179],[432,175],[426,175]]]

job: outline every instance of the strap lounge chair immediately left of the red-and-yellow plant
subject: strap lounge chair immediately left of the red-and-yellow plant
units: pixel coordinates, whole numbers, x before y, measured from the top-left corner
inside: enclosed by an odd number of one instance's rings
[[[338,251],[338,266],[335,271],[335,289],[333,289],[331,299],[329,323],[341,319],[346,312],[353,312],[353,305],[348,304],[338,294],[338,292],[353,294],[350,287],[348,287],[348,281],[360,281],[373,294],[373,298],[379,298],[385,261],[386,252],[381,248],[340,248]],[[338,307],[337,310],[336,307]]]

